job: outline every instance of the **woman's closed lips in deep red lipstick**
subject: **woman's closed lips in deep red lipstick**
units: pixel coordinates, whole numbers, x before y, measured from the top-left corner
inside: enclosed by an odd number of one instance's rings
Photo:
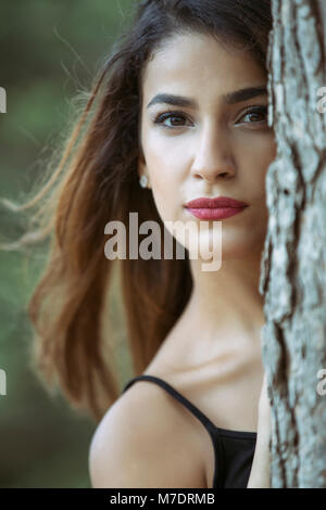
[[[200,219],[225,219],[241,213],[248,204],[228,196],[217,196],[216,199],[191,200],[185,207]]]

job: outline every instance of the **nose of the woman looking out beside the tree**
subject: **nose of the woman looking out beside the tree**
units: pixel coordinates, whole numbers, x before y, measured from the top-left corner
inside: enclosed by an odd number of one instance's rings
[[[235,163],[227,133],[222,127],[208,124],[199,135],[191,175],[209,182],[235,176]]]

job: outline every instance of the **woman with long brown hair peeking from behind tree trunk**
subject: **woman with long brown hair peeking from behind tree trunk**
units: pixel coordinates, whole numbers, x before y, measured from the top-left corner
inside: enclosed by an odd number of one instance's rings
[[[271,28],[268,0],[140,2],[58,170],[27,204],[54,190],[39,209],[49,213],[40,232],[52,233],[52,250],[29,314],[48,382],[57,375],[99,420],[95,487],[268,486],[259,278],[265,175],[276,154]],[[221,196],[234,202],[189,204]],[[204,221],[199,247],[220,218],[222,266],[203,271],[178,234],[185,258],[120,260],[140,375],[120,395],[103,352],[110,339],[101,341],[113,264],[104,227],[121,220],[128,231],[130,212],[162,232],[166,221]]]

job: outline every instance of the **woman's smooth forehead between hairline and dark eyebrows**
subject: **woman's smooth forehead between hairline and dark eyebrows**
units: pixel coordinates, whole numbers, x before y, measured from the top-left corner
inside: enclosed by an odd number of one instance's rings
[[[266,72],[241,49],[222,46],[210,35],[170,38],[143,69],[142,94],[158,91],[216,95],[266,80]]]

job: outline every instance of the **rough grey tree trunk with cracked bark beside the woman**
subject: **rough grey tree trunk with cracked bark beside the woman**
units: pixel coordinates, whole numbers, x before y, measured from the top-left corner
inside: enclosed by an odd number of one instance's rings
[[[317,109],[326,87],[325,4],[273,0],[269,123],[278,151],[266,179],[260,282],[271,487],[326,487],[326,395],[317,392],[326,369],[326,113]]]

